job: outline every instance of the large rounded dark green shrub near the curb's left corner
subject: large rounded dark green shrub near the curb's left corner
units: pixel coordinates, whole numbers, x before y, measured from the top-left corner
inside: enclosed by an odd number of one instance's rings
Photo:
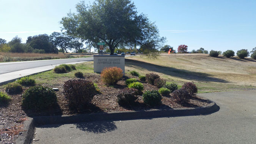
[[[57,105],[57,96],[52,88],[33,86],[22,95],[22,106],[30,110],[49,110]]]

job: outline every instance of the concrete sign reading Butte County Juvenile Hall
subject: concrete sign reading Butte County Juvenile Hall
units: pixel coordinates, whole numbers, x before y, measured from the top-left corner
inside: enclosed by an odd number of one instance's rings
[[[94,55],[94,72],[101,72],[104,67],[120,67],[124,74],[124,55]]]

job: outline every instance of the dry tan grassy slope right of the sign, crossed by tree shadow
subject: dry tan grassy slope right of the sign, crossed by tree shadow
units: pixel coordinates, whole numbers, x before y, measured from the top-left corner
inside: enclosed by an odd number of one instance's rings
[[[162,54],[158,59],[133,56],[126,60],[127,70],[143,75],[154,72],[180,86],[194,81],[200,93],[256,88],[256,61],[251,58],[214,58],[207,54]]]

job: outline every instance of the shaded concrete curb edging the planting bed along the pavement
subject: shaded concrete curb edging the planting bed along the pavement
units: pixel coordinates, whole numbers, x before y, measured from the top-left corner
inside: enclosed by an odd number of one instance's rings
[[[187,109],[163,109],[163,110],[144,110],[144,111],[115,111],[109,113],[91,113],[75,116],[37,116],[29,117],[25,121],[24,135],[19,136],[17,144],[30,144],[33,140],[35,127],[51,124],[72,124],[89,121],[120,121],[132,119],[152,119],[157,117],[176,117],[176,116],[196,116],[215,113],[220,107],[212,102],[208,106]]]

